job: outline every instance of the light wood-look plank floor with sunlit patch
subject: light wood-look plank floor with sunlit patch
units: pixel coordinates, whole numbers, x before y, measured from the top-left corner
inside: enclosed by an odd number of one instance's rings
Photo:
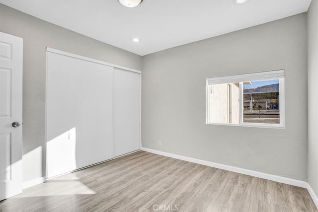
[[[25,189],[1,210],[318,212],[306,189],[145,151]]]

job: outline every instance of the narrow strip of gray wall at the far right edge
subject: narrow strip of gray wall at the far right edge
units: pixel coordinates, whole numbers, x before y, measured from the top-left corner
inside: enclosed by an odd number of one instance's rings
[[[308,23],[308,183],[318,195],[318,0],[312,0]]]

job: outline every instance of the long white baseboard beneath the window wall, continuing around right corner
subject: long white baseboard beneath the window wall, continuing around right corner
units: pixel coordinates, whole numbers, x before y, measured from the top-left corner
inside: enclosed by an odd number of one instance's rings
[[[302,180],[295,180],[295,179],[291,179],[291,178],[287,178],[287,177],[281,177],[281,176],[267,174],[267,173],[263,173],[263,172],[252,171],[249,169],[243,169],[243,168],[224,165],[224,164],[220,164],[220,163],[214,163],[214,162],[210,162],[210,161],[206,161],[206,160],[200,160],[200,159],[196,159],[196,158],[192,158],[192,157],[186,157],[186,156],[182,156],[182,155],[178,155],[178,154],[172,154],[172,153],[158,151],[155,149],[150,149],[150,148],[145,148],[145,147],[142,147],[141,150],[151,152],[154,154],[163,155],[166,157],[172,157],[172,158],[176,158],[176,159],[180,159],[180,160],[185,160],[185,161],[192,162],[192,163],[197,163],[197,164],[206,165],[206,166],[210,166],[210,167],[214,167],[214,168],[219,168],[219,169],[237,172],[240,174],[246,174],[246,175],[250,175],[253,177],[259,177],[259,178],[266,179],[266,180],[272,180],[272,181],[279,182],[279,183],[285,183],[285,184],[289,184],[292,186],[306,188],[308,190],[309,194],[311,195],[311,197],[313,198],[313,201],[316,204],[316,207],[318,208],[317,195],[315,194],[312,187],[307,182],[302,181]]]

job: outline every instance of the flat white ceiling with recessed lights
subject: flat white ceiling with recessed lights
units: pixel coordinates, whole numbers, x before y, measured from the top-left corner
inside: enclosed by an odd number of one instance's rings
[[[144,56],[306,12],[311,0],[0,0],[80,34]],[[139,38],[135,43],[133,38]]]

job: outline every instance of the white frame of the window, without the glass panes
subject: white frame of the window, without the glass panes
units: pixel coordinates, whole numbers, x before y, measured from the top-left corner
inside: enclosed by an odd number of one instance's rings
[[[279,124],[265,124],[265,123],[248,123],[243,122],[243,82],[257,81],[257,80],[279,80]],[[239,82],[239,124],[228,123],[211,123],[209,122],[209,85],[211,84],[224,84]],[[208,125],[227,125],[227,126],[240,126],[240,127],[259,127],[259,128],[275,128],[285,129],[285,81],[284,70],[278,71],[264,71],[256,73],[247,73],[231,76],[220,76],[206,79],[206,124]]]

